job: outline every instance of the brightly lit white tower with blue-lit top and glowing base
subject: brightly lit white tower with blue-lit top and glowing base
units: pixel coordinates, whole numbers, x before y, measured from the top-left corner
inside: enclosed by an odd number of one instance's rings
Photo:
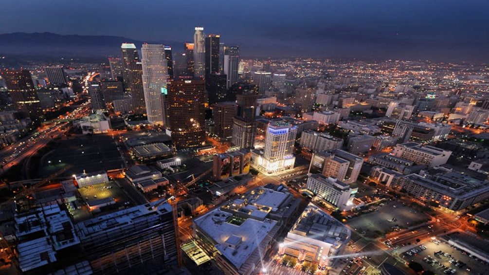
[[[251,153],[256,167],[267,173],[274,173],[294,167],[294,143],[297,127],[287,121],[270,122],[265,137],[265,148]]]

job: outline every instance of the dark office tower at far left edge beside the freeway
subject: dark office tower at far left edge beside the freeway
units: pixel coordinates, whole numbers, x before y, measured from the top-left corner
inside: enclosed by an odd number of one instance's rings
[[[1,76],[17,111],[22,117],[30,117],[34,124],[40,123],[43,109],[29,70],[4,69]]]

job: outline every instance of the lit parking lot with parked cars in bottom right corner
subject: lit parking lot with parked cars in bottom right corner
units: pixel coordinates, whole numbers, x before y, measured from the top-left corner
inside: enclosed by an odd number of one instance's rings
[[[417,253],[410,251],[412,255],[403,252],[401,257],[406,261],[418,262],[424,270],[430,270],[435,274],[488,274],[488,263],[470,257],[467,252],[455,249],[443,240],[432,240],[423,245],[426,247],[425,250]],[[455,271],[452,273],[453,269]]]

